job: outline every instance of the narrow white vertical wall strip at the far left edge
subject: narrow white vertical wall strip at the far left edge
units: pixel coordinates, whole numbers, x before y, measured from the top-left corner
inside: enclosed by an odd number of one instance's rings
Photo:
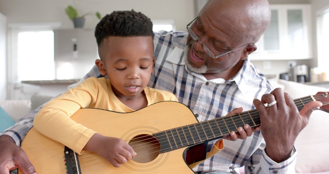
[[[6,73],[6,38],[7,38],[6,16],[0,13],[0,101],[7,96],[7,73]]]

